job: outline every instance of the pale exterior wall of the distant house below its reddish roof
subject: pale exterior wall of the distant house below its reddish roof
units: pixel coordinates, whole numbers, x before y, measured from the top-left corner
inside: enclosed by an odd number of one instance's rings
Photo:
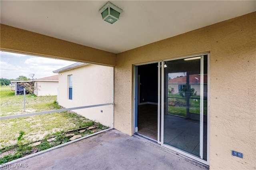
[[[58,81],[35,81],[37,83],[38,90],[35,92],[37,96],[55,96],[58,90]]]

